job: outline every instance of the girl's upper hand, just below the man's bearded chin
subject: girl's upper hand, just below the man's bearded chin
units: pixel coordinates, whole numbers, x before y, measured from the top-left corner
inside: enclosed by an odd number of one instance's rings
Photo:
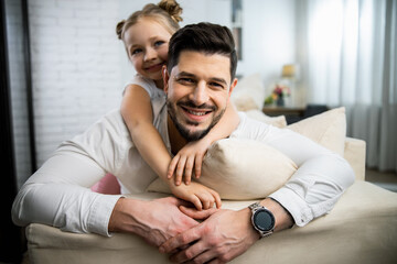
[[[167,178],[172,178],[175,173],[175,185],[180,185],[182,183],[183,176],[184,184],[189,185],[192,179],[193,168],[195,177],[200,178],[203,158],[210,145],[211,143],[205,141],[204,139],[196,142],[187,143],[172,158],[167,174]]]

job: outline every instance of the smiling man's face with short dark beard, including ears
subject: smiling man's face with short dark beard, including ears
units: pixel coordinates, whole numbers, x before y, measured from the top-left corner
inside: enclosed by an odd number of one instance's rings
[[[163,76],[169,116],[187,141],[202,139],[219,121],[237,84],[230,84],[229,57],[221,54],[182,52]]]

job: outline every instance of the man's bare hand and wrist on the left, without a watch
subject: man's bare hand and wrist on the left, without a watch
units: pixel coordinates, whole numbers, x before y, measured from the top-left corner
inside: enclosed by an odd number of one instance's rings
[[[174,197],[151,201],[120,198],[109,220],[109,232],[128,232],[160,246],[167,240],[189,230],[197,221],[182,213],[179,206],[189,205]]]

